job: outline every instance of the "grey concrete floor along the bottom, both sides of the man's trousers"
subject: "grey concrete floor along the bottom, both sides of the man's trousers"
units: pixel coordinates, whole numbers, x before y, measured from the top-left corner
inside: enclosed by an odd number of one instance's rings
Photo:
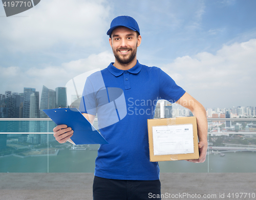
[[[91,200],[93,177],[93,173],[0,173],[0,199]],[[256,173],[160,173],[160,180],[162,199],[256,199],[252,197]]]

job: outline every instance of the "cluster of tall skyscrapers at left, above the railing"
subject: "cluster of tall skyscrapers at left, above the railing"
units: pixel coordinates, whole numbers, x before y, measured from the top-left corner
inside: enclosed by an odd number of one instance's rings
[[[66,87],[51,90],[44,85],[41,93],[39,98],[35,88],[24,87],[23,93],[0,94],[0,118],[49,118],[43,109],[67,107]]]

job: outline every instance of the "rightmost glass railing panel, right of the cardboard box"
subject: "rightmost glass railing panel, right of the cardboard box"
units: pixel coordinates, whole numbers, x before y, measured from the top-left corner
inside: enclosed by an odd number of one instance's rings
[[[209,172],[256,172],[256,121],[208,121]]]

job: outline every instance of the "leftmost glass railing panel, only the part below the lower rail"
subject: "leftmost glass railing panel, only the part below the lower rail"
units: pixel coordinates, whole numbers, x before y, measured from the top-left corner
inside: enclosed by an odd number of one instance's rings
[[[48,135],[0,134],[0,172],[48,172]]]

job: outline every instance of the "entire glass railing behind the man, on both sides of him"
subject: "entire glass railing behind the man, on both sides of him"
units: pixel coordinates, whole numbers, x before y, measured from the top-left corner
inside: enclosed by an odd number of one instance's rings
[[[159,162],[160,171],[256,172],[256,121],[229,122],[208,119],[204,163]],[[55,126],[49,120],[0,119],[0,172],[94,172],[99,145],[59,144],[48,134]],[[97,128],[97,121],[94,126]]]

